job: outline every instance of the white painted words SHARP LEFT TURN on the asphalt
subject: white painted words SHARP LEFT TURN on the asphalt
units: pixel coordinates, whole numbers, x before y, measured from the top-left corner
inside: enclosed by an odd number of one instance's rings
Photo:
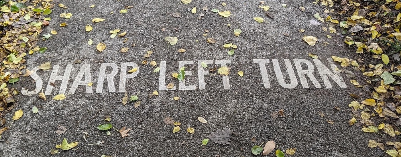
[[[272,81],[277,81],[277,83],[282,86],[283,88],[292,89],[298,87],[298,79],[301,82],[302,88],[310,88],[308,84],[308,80],[312,82],[315,88],[322,88],[322,85],[316,79],[317,75],[314,75],[313,72],[315,71],[315,67],[322,79],[324,87],[326,89],[333,88],[329,78],[333,80],[338,87],[346,88],[346,84],[340,73],[336,70],[337,67],[331,61],[331,59],[327,59],[328,63],[330,64],[331,70],[326,67],[319,59],[313,59],[312,61],[308,61],[307,59],[253,59],[253,63],[259,64],[260,75],[261,75],[261,82],[263,82],[264,88],[271,88],[270,86],[270,79],[272,78],[271,75],[268,73],[273,69],[275,73],[275,79]],[[198,86],[199,90],[205,90],[205,75],[211,75],[209,70],[202,67],[201,62],[205,62],[208,65],[212,64],[220,64],[221,67],[229,67],[228,64],[231,64],[231,60],[201,60],[197,62],[197,69],[198,69],[198,84],[188,85],[185,83],[185,80],[178,82],[178,90],[196,90],[196,86]],[[313,62],[313,63],[312,63]],[[284,63],[284,66],[283,66]],[[185,65],[193,65],[194,61],[178,61],[178,69],[184,67]],[[281,64],[281,65],[280,65]],[[293,68],[295,65],[295,70]],[[65,68],[65,72],[63,75],[59,75],[60,65],[53,65],[53,69],[51,71],[51,75],[49,77],[49,81],[47,82],[47,87],[45,91],[45,95],[49,96],[55,86],[54,82],[57,80],[61,80],[61,85],[59,88],[59,94],[65,94],[67,90],[67,85],[70,80],[70,74],[72,69],[71,64],[67,65]],[[107,83],[108,92],[116,92],[115,91],[115,76],[117,75],[118,71],[120,71],[119,76],[119,86],[118,92],[125,92],[126,91],[126,80],[132,79],[139,74],[139,66],[134,62],[123,62],[120,65],[121,69],[119,70],[119,66],[116,63],[102,63],[99,67],[99,77],[97,80],[96,86],[96,93],[103,92],[103,85],[105,84],[105,80]],[[127,73],[127,70],[133,68],[138,68],[136,72]],[[285,68],[282,68],[285,67]],[[36,73],[38,71],[38,67],[32,69],[32,79],[35,81],[36,88],[33,91],[28,91],[26,88],[22,88],[21,92],[23,95],[33,96],[38,94],[39,91],[43,87],[43,80],[42,78]],[[86,63],[83,64],[77,76],[75,77],[68,94],[74,94],[78,88],[78,86],[85,86],[85,92],[87,94],[93,93],[92,86],[87,86],[89,82],[92,82],[92,75],[90,70],[90,64]],[[106,70],[111,69],[111,70]],[[285,70],[283,70],[285,69]],[[298,78],[297,75],[298,74]],[[316,73],[316,72],[315,72]],[[185,75],[189,76],[192,75],[192,71],[185,71]],[[288,76],[288,77],[287,77]],[[82,80],[84,78],[84,80]],[[221,76],[222,83],[224,89],[230,89],[230,80],[229,75]],[[287,79],[286,79],[287,78]],[[307,80],[308,79],[308,80]],[[172,89],[168,89],[166,87],[166,61],[160,61],[160,71],[159,71],[159,84],[158,89],[161,90],[176,90],[176,86]]]

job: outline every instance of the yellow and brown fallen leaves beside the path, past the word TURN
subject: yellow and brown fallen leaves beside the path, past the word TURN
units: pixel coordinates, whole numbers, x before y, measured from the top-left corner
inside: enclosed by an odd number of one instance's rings
[[[340,29],[345,36],[344,45],[349,47],[348,57],[332,56],[341,63],[338,71],[364,92],[350,94],[354,101],[349,104],[349,125],[359,126],[365,133],[387,134],[384,139],[367,139],[367,146],[400,157],[401,143],[397,137],[401,131],[401,1],[316,0],[314,4],[326,6],[325,18],[319,13],[315,17]]]

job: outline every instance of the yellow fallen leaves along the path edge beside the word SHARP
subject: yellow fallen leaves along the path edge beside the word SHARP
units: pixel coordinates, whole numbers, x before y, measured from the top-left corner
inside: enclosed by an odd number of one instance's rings
[[[40,33],[43,27],[49,25],[53,0],[19,0],[0,1],[5,2],[0,7],[0,127],[6,123],[2,118],[4,114],[14,108],[13,96],[18,94],[13,87],[20,76],[30,75],[25,69],[26,55],[44,53],[46,47],[39,47],[36,44],[41,40]],[[49,39],[51,35],[44,35],[43,40]],[[7,127],[0,129],[1,133]]]

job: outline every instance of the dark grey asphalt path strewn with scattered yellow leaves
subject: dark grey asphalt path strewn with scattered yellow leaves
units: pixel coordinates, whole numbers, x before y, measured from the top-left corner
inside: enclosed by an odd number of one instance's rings
[[[43,32],[56,30],[58,34],[40,42],[47,51],[24,57],[27,69],[45,62],[51,62],[52,68],[36,71],[43,82],[40,87],[36,86],[38,80],[32,77],[21,77],[14,85],[19,90],[49,90],[47,101],[38,98],[37,92],[33,96],[20,94],[16,108],[22,108],[24,115],[2,135],[2,141],[6,142],[0,143],[0,156],[51,156],[50,150],[63,138],[79,142],[77,150],[59,149],[54,156],[253,156],[251,148],[269,140],[275,141],[276,148],[282,151],[296,148],[295,156],[299,157],[385,156],[378,148],[367,148],[369,139],[379,139],[379,135],[348,126],[352,118],[349,94],[361,91],[354,88],[343,73],[336,75],[338,71],[327,60],[331,55],[347,55],[348,47],[342,43],[340,30],[330,34],[322,31],[325,25],[309,24],[309,20],[314,19],[313,14],[322,13],[324,8],[312,4],[312,0],[265,1],[265,5],[270,6],[272,19],[258,8],[263,5],[259,1],[228,0],[225,1],[227,6],[222,6],[222,2],[61,0],[59,3],[68,8],[56,6],[49,15],[50,25]],[[95,7],[89,7],[93,4]],[[126,6],[133,7],[120,14]],[[209,12],[202,9],[205,6]],[[301,12],[299,6],[304,6],[306,11]],[[188,11],[193,7],[197,8],[195,14]],[[224,18],[211,12],[212,9],[229,10],[231,16]],[[71,12],[73,16],[70,19],[59,17],[63,12]],[[182,17],[173,17],[175,12],[180,12]],[[201,13],[204,16],[199,17]],[[265,20],[258,23],[253,17]],[[93,18],[105,20],[92,23]],[[60,27],[63,22],[68,25]],[[86,32],[85,25],[91,25],[93,30]],[[114,29],[126,35],[110,38],[109,31]],[[241,29],[239,37],[235,37],[234,29]],[[300,29],[305,32],[300,33]],[[328,44],[309,46],[302,41],[305,35],[324,39]],[[178,37],[178,43],[169,45],[164,41],[168,36]],[[208,38],[215,39],[216,43],[207,43]],[[93,40],[93,45],[88,45],[89,39]],[[105,43],[103,52],[96,50],[98,43]],[[234,55],[227,54],[231,49],[224,48],[225,43],[237,45]],[[120,52],[122,47],[129,47],[128,52]],[[186,52],[179,53],[178,49]],[[153,53],[143,58],[147,51]],[[315,53],[319,59],[308,57],[308,53]],[[77,60],[81,62],[76,63]],[[154,60],[157,65],[144,65],[144,60],[149,63]],[[212,69],[227,66],[231,68],[230,74],[221,76],[217,70],[208,72],[208,68],[199,67],[202,61]],[[296,63],[301,69],[297,69]],[[68,76],[65,81],[61,80],[64,77],[51,77],[55,65],[59,67],[57,75]],[[178,72],[182,65],[187,72],[184,83],[179,84],[171,73]],[[126,71],[134,67],[138,71],[132,77]],[[153,72],[156,67],[161,70]],[[69,68],[71,71],[67,75],[65,71]],[[312,73],[314,78],[300,75],[305,69],[304,72]],[[327,69],[331,75],[325,73]],[[93,85],[76,86],[72,94],[71,86],[81,70],[81,74],[90,74]],[[238,71],[243,71],[243,77]],[[99,82],[102,72],[100,80],[103,81]],[[107,75],[113,73],[111,77]],[[164,79],[160,79],[163,76]],[[85,80],[84,75],[81,77]],[[49,78],[55,81],[49,83]],[[166,90],[168,83],[174,83],[175,90]],[[151,97],[154,91],[159,95]],[[52,100],[60,93],[65,93],[67,98]],[[135,108],[133,102],[124,106],[125,94],[128,98],[138,94],[140,106]],[[180,99],[174,100],[175,96]],[[38,106],[37,114],[31,112],[34,105]],[[279,110],[284,110],[285,116],[277,115]],[[6,118],[11,119],[12,114],[10,112]],[[122,138],[114,129],[110,129],[109,136],[106,131],[98,130],[96,126],[108,123],[104,120],[107,116],[118,130],[124,126],[132,128],[128,136]],[[165,124],[166,116],[181,122],[179,132],[172,133],[174,126]],[[199,122],[199,116],[208,123]],[[56,133],[59,125],[67,128],[61,135]],[[188,127],[194,128],[194,134],[186,132]],[[205,147],[200,147],[198,141],[223,128],[233,131],[229,145],[209,141]],[[89,135],[86,141],[84,132]],[[253,138],[255,142],[251,141]],[[88,145],[98,141],[103,142],[102,146]]]

